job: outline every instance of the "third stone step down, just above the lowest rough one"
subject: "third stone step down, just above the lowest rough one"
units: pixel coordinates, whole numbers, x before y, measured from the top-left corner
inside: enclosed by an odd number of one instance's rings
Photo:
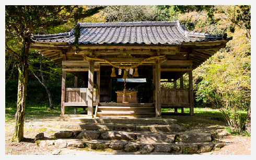
[[[201,143],[211,142],[212,135],[205,132],[125,132],[125,131],[96,131],[96,130],[63,130],[54,134],[55,138],[103,139],[140,141],[144,143]]]

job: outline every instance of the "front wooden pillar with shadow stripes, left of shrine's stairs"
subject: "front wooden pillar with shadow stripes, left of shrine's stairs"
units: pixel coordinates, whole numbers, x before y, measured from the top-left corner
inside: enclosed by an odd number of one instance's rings
[[[93,118],[94,112],[94,60],[89,60],[88,71],[88,110],[87,117]]]

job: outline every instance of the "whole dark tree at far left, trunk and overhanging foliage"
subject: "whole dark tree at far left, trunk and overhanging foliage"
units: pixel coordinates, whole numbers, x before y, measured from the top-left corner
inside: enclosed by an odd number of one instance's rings
[[[74,22],[97,13],[103,7],[85,10],[82,6],[5,6],[5,48],[19,62],[19,81],[17,94],[17,112],[15,114],[15,132],[13,141],[24,139],[24,116],[28,77],[28,57],[31,34],[42,28],[49,28]],[[18,48],[12,48],[10,42],[19,41]]]

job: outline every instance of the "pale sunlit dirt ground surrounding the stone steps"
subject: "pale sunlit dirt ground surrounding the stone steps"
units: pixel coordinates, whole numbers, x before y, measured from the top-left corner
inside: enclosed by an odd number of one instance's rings
[[[165,118],[164,116],[162,116]],[[166,116],[167,117],[167,116]],[[213,121],[212,119],[198,116],[169,116],[178,120],[178,124],[194,132],[211,132],[214,135],[214,141],[224,143],[225,146],[219,150],[203,153],[204,155],[250,155],[251,137],[230,135],[223,123]],[[67,119],[59,116],[25,119],[24,141],[20,143],[10,142],[14,133],[14,121],[5,123],[5,154],[6,155],[52,155],[52,151],[42,149],[33,143],[34,137],[44,133],[44,137],[50,137],[54,132],[61,130],[60,125],[68,123]],[[83,154],[83,155],[122,155],[122,154],[141,154],[139,152],[117,152],[109,151],[88,151],[65,149],[65,154]],[[150,154],[173,154],[173,153],[150,153]]]

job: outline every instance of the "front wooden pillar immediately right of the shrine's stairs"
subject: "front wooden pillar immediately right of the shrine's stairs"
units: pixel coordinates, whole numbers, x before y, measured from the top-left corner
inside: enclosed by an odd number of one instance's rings
[[[155,70],[156,85],[156,118],[161,118],[161,85],[160,85],[160,60],[156,60]]]

